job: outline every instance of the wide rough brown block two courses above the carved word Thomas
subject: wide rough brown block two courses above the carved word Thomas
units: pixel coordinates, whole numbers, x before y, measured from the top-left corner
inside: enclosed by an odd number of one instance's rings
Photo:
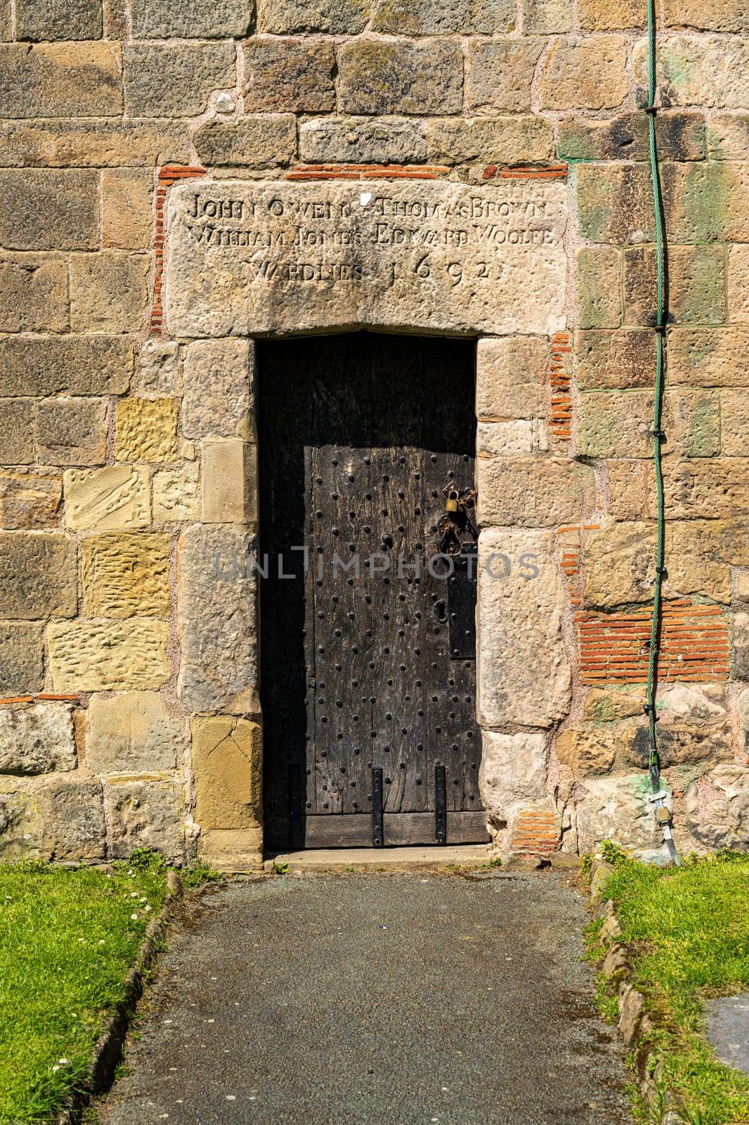
[[[459,114],[463,57],[449,39],[352,39],[339,60],[343,114]],[[324,108],[324,107],[315,107]]]

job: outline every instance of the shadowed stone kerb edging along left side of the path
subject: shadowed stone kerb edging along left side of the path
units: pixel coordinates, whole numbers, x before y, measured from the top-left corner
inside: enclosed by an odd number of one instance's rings
[[[143,996],[143,983],[156,960],[174,902],[181,897],[182,880],[180,874],[178,871],[169,871],[163,909],[159,917],[148,922],[146,927],[135,964],[127,974],[123,998],[115,1007],[97,1040],[85,1082],[80,1090],[71,1094],[67,1105],[57,1117],[57,1125],[79,1125],[91,1097],[103,1094],[111,1086],[115,1071],[123,1056],[123,1046],[135,1012],[135,1006]]]

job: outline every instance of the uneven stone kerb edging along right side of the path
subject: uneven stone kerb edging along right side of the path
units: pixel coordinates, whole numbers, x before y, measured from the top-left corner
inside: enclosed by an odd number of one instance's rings
[[[599,940],[606,947],[601,971],[607,980],[617,987],[619,994],[619,1033],[624,1045],[634,1054],[637,1068],[637,1084],[648,1105],[660,1117],[660,1125],[686,1125],[674,1108],[675,1097],[662,1084],[662,1065],[651,1048],[652,1032],[656,1022],[644,1011],[644,997],[632,983],[634,969],[630,961],[628,946],[619,940],[622,927],[619,924],[614,903],[611,899],[602,899],[603,888],[614,867],[605,860],[595,860],[590,878],[590,901],[596,906],[598,917],[604,922]]]

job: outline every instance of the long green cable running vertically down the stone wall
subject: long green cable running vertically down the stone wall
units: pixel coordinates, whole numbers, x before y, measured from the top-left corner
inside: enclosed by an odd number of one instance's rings
[[[666,240],[664,237],[664,201],[660,190],[658,170],[658,144],[656,141],[656,3],[648,0],[648,141],[650,150],[650,176],[652,179],[652,198],[656,220],[656,389],[652,423],[653,462],[656,469],[656,489],[658,493],[658,544],[656,548],[656,575],[652,597],[652,622],[650,627],[650,652],[648,660],[648,724],[650,734],[650,755],[648,771],[653,793],[660,792],[660,758],[658,755],[658,736],[656,732],[656,690],[658,685],[658,655],[662,621],[662,584],[666,574],[666,500],[664,493],[662,466],[662,406],[664,406],[664,339],[667,317],[666,295]],[[662,801],[656,802],[662,807]],[[669,844],[674,862],[678,856],[670,837],[670,829],[664,829],[664,836]]]

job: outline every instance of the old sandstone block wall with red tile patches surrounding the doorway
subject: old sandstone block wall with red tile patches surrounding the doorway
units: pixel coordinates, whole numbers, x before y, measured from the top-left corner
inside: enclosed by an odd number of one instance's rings
[[[164,315],[197,178],[563,184],[563,331],[478,349],[481,550],[541,560],[482,582],[484,794],[505,854],[655,852],[644,14],[0,0],[0,855],[261,847],[256,591],[214,570],[255,532],[254,351]],[[749,15],[660,20],[664,776],[683,847],[746,847]]]

